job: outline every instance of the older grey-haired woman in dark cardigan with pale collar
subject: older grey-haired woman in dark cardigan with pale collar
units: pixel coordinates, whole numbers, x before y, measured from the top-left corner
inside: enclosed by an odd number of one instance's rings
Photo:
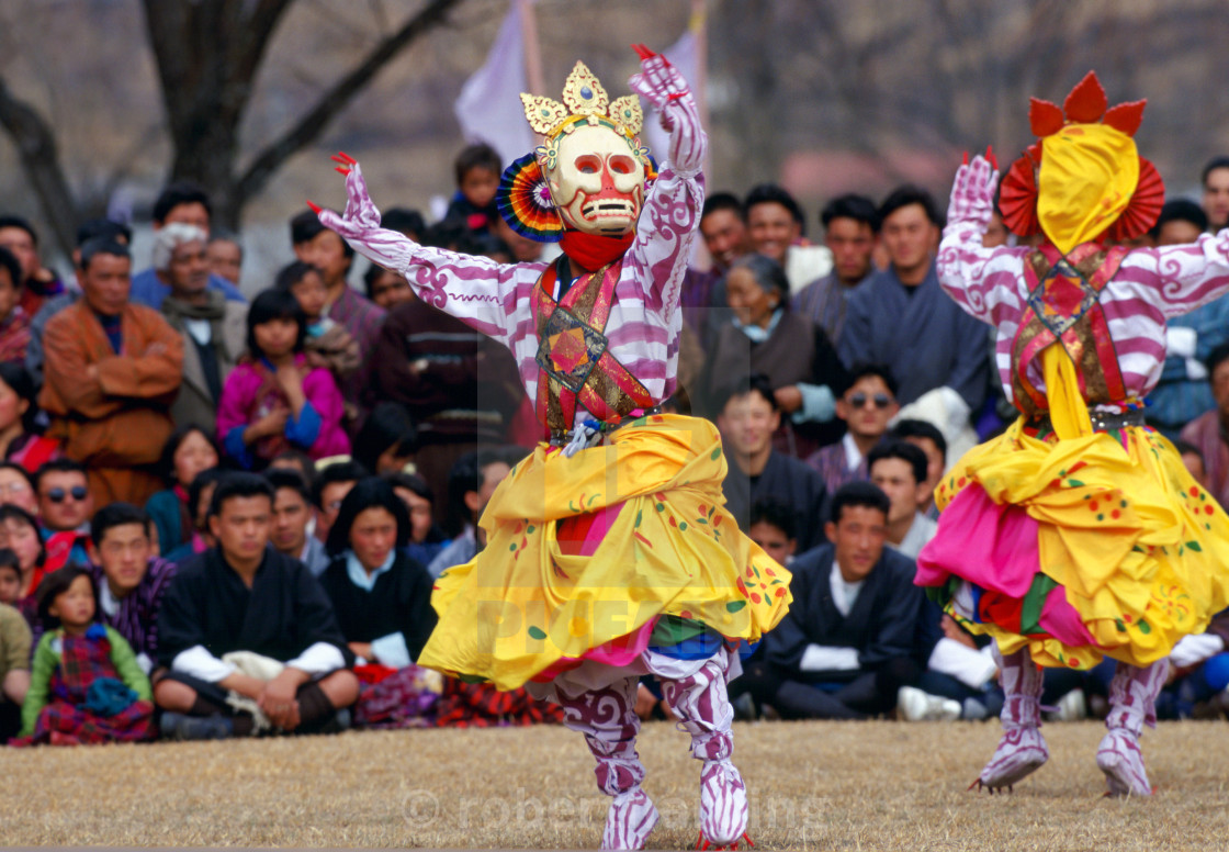
[[[779,263],[746,254],[730,267],[726,301],[734,316],[717,329],[708,364],[692,393],[698,413],[714,417],[731,376],[768,376],[782,419],[777,449],[805,459],[839,438],[833,420],[846,371],[823,329],[789,310],[789,280]]]

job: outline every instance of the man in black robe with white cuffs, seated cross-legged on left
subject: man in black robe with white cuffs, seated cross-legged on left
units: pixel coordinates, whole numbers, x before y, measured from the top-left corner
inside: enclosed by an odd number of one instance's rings
[[[159,664],[170,671],[155,675],[154,700],[168,711],[165,736],[349,724],[345,708],[359,696],[354,655],[307,568],[268,547],[272,515],[264,477],[234,473],[214,489],[218,546],[179,566],[159,613]]]

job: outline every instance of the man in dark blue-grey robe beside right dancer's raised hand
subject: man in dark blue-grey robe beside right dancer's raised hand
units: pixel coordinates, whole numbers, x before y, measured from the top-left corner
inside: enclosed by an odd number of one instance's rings
[[[880,237],[891,258],[849,295],[838,352],[847,368],[884,364],[902,406],[950,387],[972,417],[989,381],[987,334],[939,286],[934,248],[943,220],[923,189],[901,187],[880,208]]]

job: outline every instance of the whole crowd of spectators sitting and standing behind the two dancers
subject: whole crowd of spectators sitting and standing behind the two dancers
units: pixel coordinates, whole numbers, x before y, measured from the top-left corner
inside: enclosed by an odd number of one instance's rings
[[[547,261],[494,207],[501,164],[457,157],[444,220],[390,209],[424,245]],[[1132,246],[1229,221],[1229,157],[1203,204],[1171,200]],[[74,274],[0,215],[0,736],[16,745],[559,722],[524,691],[420,669],[433,578],[484,545],[482,511],[540,439],[511,357],[305,210],[286,264],[240,280],[206,193],[173,183],[149,267],[132,232],[77,229]],[[713,419],[729,510],[794,574],[745,649],[742,718],[978,719],[1002,695],[983,639],[913,584],[935,484],[1011,408],[989,329],[939,288],[924,189],[807,216],[782,187],[717,192],[687,272],[678,387]],[[995,223],[998,224],[998,223]],[[992,227],[986,245],[1014,241]],[[1229,504],[1229,300],[1172,322],[1148,408]],[[1170,718],[1229,711],[1229,616],[1174,653]],[[1057,718],[1104,708],[1105,666],[1047,674]],[[642,685],[645,718],[667,714]],[[1104,709],[1102,709],[1104,712]]]

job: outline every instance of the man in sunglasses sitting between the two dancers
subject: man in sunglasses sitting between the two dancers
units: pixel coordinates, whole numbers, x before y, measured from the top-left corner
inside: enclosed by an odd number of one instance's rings
[[[896,380],[886,366],[862,364],[853,369],[853,381],[837,400],[837,417],[846,423],[844,436],[806,459],[823,477],[828,493],[847,482],[869,478],[866,454],[884,439],[889,422],[900,409]]]

